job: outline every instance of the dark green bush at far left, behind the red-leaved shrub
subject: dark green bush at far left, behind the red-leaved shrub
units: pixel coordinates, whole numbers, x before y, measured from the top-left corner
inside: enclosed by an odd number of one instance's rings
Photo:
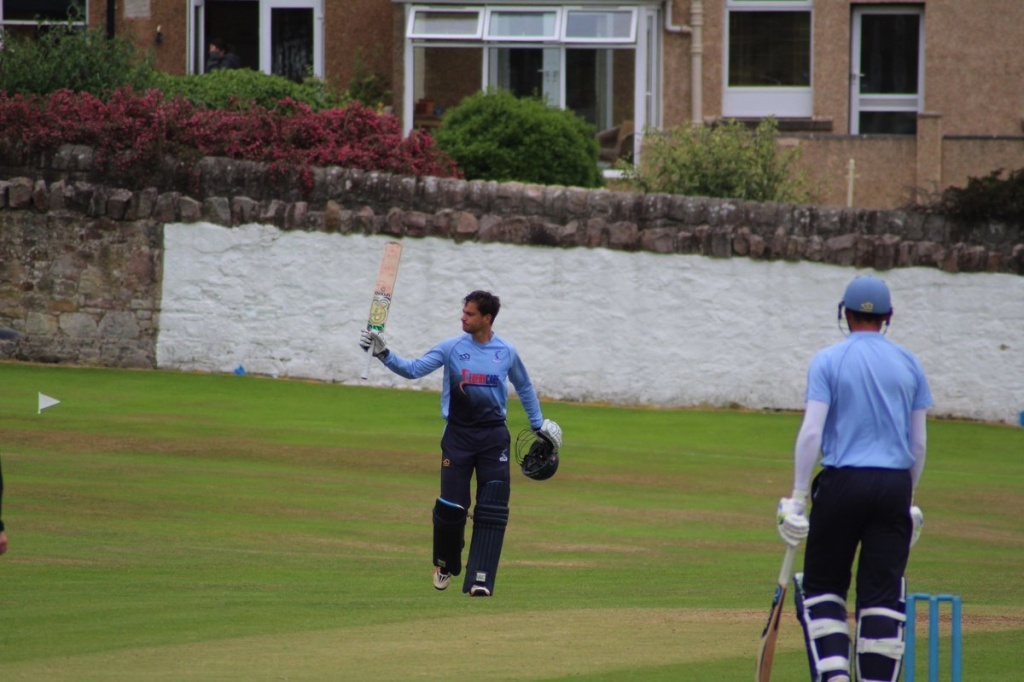
[[[141,89],[154,73],[150,58],[123,37],[68,24],[39,27],[36,40],[14,40],[0,50],[0,90],[45,95],[57,90],[105,96]]]

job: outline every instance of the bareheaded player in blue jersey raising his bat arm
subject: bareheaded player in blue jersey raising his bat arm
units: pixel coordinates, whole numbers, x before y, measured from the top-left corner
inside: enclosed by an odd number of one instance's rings
[[[472,597],[494,594],[508,525],[511,436],[506,425],[507,382],[515,387],[538,437],[552,442],[555,451],[561,444],[561,429],[544,419],[519,353],[492,330],[500,308],[501,301],[494,294],[471,292],[463,299],[463,333],[415,359],[391,352],[375,330],[364,330],[359,337],[364,350],[372,348],[384,367],[407,379],[444,369],[441,417],[446,425],[441,437],[440,497],[433,510],[433,585],[444,590],[452,577],[462,571],[470,481],[475,472],[473,537],[462,590]]]

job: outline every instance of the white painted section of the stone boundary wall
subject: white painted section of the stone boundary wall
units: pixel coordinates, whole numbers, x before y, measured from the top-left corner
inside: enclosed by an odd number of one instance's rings
[[[359,330],[384,237],[265,225],[165,227],[157,361],[164,369],[360,383]],[[851,268],[746,258],[406,240],[390,347],[415,356],[461,332],[462,297],[502,299],[496,331],[542,397],[663,407],[803,407],[811,356],[841,339]],[[876,272],[889,337],[922,359],[933,415],[1017,423],[1024,411],[1024,278]],[[376,361],[368,383],[440,388]]]

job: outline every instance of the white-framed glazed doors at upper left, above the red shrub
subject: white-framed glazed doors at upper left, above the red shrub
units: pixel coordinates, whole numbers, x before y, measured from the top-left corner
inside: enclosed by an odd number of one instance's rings
[[[294,81],[324,77],[325,0],[188,0],[188,71],[207,71],[222,40],[243,68]]]

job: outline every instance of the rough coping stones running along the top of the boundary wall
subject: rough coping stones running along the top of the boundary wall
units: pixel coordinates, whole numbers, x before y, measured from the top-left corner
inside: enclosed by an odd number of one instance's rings
[[[265,165],[206,158],[190,191],[110,186],[88,147],[35,164],[0,159],[0,212],[79,213],[116,222],[250,222],[282,229],[385,233],[550,248],[607,248],[714,258],[810,260],[845,267],[937,267],[1024,274],[1019,225],[965,224],[880,211],[642,195],[521,182],[413,177],[319,168],[313,186],[271,180]]]

